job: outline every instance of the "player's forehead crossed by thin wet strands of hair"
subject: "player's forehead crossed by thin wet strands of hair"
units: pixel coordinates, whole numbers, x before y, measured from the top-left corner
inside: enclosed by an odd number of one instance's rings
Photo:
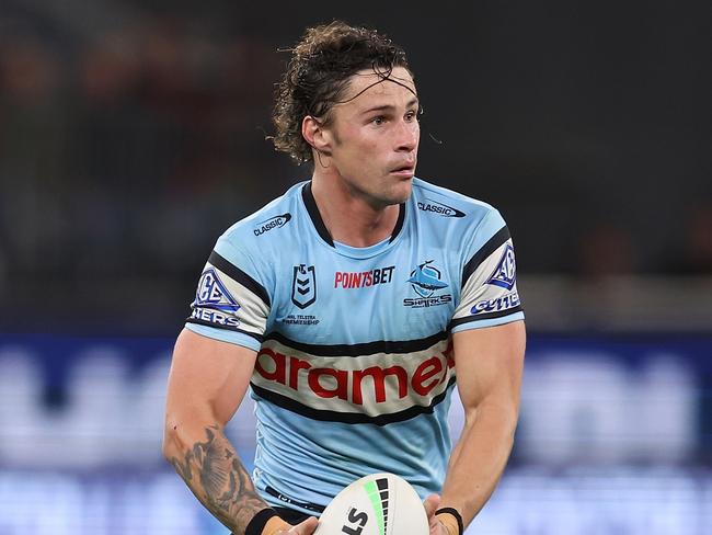
[[[358,71],[352,76],[337,106],[360,107],[371,104],[374,100],[388,99],[417,99],[413,77],[403,67],[395,67],[387,78],[371,69]]]

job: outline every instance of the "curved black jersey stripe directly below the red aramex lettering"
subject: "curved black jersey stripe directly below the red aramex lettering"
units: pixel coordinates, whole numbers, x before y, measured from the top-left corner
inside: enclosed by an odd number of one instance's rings
[[[296,412],[302,417],[309,418],[311,420],[319,420],[322,422],[341,422],[341,423],[372,423],[374,425],[387,425],[389,423],[404,422],[411,418],[415,418],[418,414],[432,414],[435,410],[435,407],[445,399],[447,392],[455,385],[455,377],[450,379],[448,386],[440,394],[435,396],[428,406],[414,405],[413,407],[393,412],[391,414],[379,414],[377,417],[370,417],[361,412],[338,412],[335,410],[320,410],[307,407],[306,405],[295,401],[287,396],[282,394],[273,392],[266,388],[262,388],[254,383],[250,383],[254,394],[261,398],[269,401],[271,403],[287,409],[288,411]]]

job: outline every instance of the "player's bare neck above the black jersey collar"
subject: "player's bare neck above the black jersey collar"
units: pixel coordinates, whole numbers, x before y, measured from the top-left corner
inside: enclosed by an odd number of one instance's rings
[[[400,213],[398,205],[379,205],[338,177],[318,171],[312,177],[311,193],[334,241],[369,247],[393,234]]]

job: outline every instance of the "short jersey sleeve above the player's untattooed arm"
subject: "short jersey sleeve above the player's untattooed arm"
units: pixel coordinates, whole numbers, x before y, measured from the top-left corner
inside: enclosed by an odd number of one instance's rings
[[[451,331],[524,319],[514,243],[504,219],[494,208],[475,228],[467,258]]]

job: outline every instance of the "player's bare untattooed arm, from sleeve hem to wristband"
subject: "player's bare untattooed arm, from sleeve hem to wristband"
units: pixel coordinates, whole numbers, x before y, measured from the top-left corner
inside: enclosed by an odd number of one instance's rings
[[[440,506],[458,510],[466,526],[490,499],[512,452],[525,340],[524,321],[452,337],[466,421],[450,456]]]

